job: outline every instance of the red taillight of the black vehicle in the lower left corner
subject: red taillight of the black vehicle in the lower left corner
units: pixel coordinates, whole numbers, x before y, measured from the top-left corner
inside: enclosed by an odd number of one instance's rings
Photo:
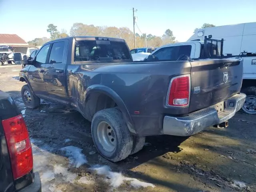
[[[30,172],[33,156],[28,130],[22,115],[2,120],[14,180]]]

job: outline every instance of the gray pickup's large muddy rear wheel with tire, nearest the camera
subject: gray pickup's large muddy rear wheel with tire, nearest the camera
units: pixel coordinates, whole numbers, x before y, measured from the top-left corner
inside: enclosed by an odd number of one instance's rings
[[[92,139],[98,152],[112,162],[118,162],[131,154],[133,140],[117,108],[96,112],[92,118]]]

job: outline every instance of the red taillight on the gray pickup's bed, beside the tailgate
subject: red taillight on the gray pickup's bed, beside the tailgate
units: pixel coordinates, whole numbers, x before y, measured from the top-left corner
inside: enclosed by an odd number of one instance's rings
[[[173,78],[168,96],[169,106],[186,106],[190,95],[190,76]]]

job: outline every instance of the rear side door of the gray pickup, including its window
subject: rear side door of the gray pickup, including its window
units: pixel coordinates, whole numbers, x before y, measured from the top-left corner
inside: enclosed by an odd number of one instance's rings
[[[65,100],[65,66],[66,66],[66,50],[68,40],[56,41],[52,44],[49,62],[44,69],[44,82],[46,90],[51,99]]]

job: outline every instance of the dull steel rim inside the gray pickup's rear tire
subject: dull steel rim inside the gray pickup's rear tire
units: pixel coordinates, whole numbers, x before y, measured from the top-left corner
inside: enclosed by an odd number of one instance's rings
[[[104,150],[107,152],[114,151],[116,148],[116,138],[114,130],[107,122],[102,121],[98,124],[97,137]]]

